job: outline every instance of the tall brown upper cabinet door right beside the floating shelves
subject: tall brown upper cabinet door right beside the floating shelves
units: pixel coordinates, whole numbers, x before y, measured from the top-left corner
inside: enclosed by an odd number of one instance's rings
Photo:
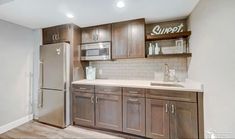
[[[144,19],[131,21],[128,27],[128,57],[145,57],[145,22]]]

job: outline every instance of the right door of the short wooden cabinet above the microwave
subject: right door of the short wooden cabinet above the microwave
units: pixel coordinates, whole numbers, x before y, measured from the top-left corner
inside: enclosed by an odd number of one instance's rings
[[[97,27],[99,42],[111,41],[111,25],[102,25]]]

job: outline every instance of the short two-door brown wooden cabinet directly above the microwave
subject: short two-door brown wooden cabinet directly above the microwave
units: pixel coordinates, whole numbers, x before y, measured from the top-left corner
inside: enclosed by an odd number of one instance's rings
[[[82,29],[82,43],[111,41],[111,25],[100,25]]]

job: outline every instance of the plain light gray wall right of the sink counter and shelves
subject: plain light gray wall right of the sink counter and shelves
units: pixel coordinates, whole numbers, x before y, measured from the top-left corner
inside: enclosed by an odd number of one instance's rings
[[[205,133],[235,138],[235,0],[201,0],[190,17],[189,78],[205,85]]]

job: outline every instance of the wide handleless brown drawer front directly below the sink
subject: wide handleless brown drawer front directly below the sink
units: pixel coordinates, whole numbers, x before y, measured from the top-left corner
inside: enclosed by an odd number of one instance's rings
[[[150,99],[175,100],[186,102],[197,102],[196,92],[165,91],[148,89],[146,97]]]

